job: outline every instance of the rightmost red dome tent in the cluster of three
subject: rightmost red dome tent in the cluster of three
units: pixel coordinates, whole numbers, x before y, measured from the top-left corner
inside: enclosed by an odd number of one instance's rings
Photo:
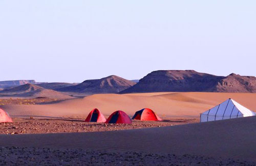
[[[159,118],[156,113],[150,108],[143,108],[139,111],[137,111],[132,119],[137,119],[141,121],[162,121],[161,118]]]

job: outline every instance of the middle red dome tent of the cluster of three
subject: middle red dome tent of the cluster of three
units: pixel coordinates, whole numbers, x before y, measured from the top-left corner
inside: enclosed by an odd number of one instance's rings
[[[117,110],[116,112],[114,112],[110,115],[110,117],[106,120],[106,123],[127,123],[127,124],[131,124],[132,120],[122,110]]]

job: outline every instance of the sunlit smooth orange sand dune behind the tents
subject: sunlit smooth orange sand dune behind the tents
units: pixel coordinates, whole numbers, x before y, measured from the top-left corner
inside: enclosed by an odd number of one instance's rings
[[[136,110],[152,108],[161,118],[172,116],[198,117],[205,110],[233,98],[251,110],[256,110],[256,94],[253,93],[141,93],[141,94],[97,94],[80,99],[70,99],[47,105],[5,105],[10,115],[53,116],[85,118],[97,107],[105,116],[114,110],[123,110],[133,116]]]

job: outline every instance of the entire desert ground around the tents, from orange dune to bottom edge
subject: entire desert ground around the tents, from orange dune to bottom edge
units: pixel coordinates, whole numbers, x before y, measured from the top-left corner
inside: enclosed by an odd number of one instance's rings
[[[95,94],[33,104],[1,105],[1,164],[254,165],[256,118],[200,123],[200,113],[232,98],[255,110],[254,93]],[[108,118],[151,108],[163,121],[84,122],[93,108]]]

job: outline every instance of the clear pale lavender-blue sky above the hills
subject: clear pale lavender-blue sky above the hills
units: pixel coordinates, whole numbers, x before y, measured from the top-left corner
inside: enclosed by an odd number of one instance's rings
[[[0,80],[256,76],[256,1],[0,1]]]

